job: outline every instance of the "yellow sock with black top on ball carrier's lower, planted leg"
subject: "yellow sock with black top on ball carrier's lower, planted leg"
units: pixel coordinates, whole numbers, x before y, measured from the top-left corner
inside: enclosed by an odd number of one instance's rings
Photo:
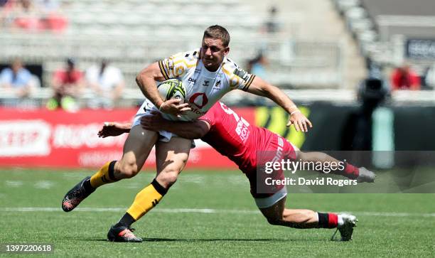
[[[146,186],[146,188],[142,189],[136,195],[127,213],[129,213],[134,220],[139,220],[145,213],[148,213],[154,208],[165,194],[166,189],[154,179],[149,186]]]

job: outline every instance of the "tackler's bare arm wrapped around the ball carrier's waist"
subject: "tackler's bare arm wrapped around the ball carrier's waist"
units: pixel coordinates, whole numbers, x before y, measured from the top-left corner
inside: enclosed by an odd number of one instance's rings
[[[159,112],[141,118],[141,126],[151,131],[169,131],[186,139],[200,139],[210,131],[210,124],[204,120],[175,122],[163,119]]]

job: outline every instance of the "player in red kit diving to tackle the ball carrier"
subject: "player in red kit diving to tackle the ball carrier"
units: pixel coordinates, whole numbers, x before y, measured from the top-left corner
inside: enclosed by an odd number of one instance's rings
[[[151,131],[163,129],[186,139],[202,139],[220,154],[234,161],[249,179],[255,203],[270,224],[296,228],[337,228],[341,240],[348,241],[352,238],[353,227],[357,221],[355,216],[287,209],[285,208],[287,192],[284,185],[262,190],[257,187],[259,173],[262,173],[259,167],[264,166],[265,162],[270,161],[276,155],[279,160],[290,158],[291,160],[338,163],[335,158],[320,152],[301,152],[278,134],[249,124],[222,102],[213,105],[203,117],[194,122],[173,122],[163,119],[158,112],[152,114],[153,116],[141,118],[141,126],[144,129]],[[129,123],[108,123],[98,135],[100,137],[117,136],[129,131],[130,126]],[[262,156],[261,160],[259,156]],[[284,178],[282,170],[275,172],[271,174],[274,179]],[[349,163],[345,163],[343,170],[337,169],[332,173],[338,173],[360,182],[373,182],[375,179],[375,174],[371,171],[356,168]]]

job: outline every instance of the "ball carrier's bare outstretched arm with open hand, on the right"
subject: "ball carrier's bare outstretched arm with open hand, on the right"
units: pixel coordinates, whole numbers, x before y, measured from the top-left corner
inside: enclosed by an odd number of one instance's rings
[[[292,102],[287,95],[279,90],[279,88],[270,85],[268,82],[262,80],[262,78],[256,76],[251,85],[247,88],[247,92],[262,97],[267,97],[276,104],[279,104],[287,113],[290,114],[287,127],[294,124],[296,131],[308,131],[308,126],[313,127],[310,120],[308,120],[304,114],[302,114],[296,104]],[[307,126],[308,124],[308,126]]]

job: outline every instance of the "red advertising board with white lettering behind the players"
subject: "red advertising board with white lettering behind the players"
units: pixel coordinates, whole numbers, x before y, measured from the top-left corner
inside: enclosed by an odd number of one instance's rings
[[[254,123],[254,109],[235,109]],[[47,109],[0,109],[0,166],[96,168],[122,156],[127,134],[101,139],[103,122],[128,122],[136,109],[90,110],[77,113]],[[237,168],[208,144],[195,140],[188,168]],[[155,167],[154,150],[145,164]]]

